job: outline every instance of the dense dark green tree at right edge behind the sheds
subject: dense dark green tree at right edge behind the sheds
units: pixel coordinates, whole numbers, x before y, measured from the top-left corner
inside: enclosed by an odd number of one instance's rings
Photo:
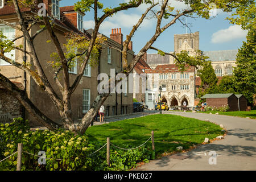
[[[251,28],[246,36],[247,41],[238,49],[237,67],[234,68],[234,80],[237,90],[253,104],[256,94],[256,29]]]

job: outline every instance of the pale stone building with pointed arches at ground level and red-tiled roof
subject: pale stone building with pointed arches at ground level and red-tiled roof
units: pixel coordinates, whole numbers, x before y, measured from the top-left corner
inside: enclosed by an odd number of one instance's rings
[[[195,102],[195,68],[188,67],[181,73],[175,64],[158,65],[155,69],[146,69],[152,74],[152,90],[155,91],[155,101],[159,99],[169,106],[193,106]],[[159,98],[158,88],[163,92]],[[154,108],[151,108],[154,109]]]

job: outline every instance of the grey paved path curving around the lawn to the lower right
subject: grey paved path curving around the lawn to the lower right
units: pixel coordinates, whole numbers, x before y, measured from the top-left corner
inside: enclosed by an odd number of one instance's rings
[[[164,112],[167,114],[167,112]],[[210,122],[224,125],[228,134],[223,140],[197,147],[185,152],[189,158],[184,160],[166,156],[159,160],[135,169],[137,171],[176,171],[176,170],[256,170],[256,119],[230,117],[227,115],[168,112],[184,117],[200,120],[209,119]],[[209,164],[210,151],[216,151],[217,164]],[[213,160],[212,160],[213,161]]]

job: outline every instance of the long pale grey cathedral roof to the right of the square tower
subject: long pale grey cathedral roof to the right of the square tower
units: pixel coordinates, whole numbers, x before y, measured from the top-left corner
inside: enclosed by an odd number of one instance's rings
[[[204,55],[208,56],[210,61],[236,61],[238,49],[225,51],[204,51]]]

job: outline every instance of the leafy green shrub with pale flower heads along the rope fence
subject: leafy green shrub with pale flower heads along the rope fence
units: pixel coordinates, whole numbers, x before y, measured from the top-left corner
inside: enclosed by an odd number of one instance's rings
[[[17,151],[18,143],[23,143],[23,151],[38,155],[39,151],[46,152],[46,165],[39,165],[38,156],[23,152],[22,170],[73,171],[73,170],[127,170],[136,167],[137,162],[147,162],[151,151],[146,147],[136,150],[123,151],[113,148],[110,154],[111,166],[106,164],[106,148],[96,154],[104,143],[90,143],[84,135],[75,136],[64,130],[30,131],[28,121],[22,118],[14,119],[13,123],[1,125],[0,137],[1,158],[10,156]],[[61,159],[61,160],[56,160]],[[17,154],[0,163],[0,170],[15,170]]]

